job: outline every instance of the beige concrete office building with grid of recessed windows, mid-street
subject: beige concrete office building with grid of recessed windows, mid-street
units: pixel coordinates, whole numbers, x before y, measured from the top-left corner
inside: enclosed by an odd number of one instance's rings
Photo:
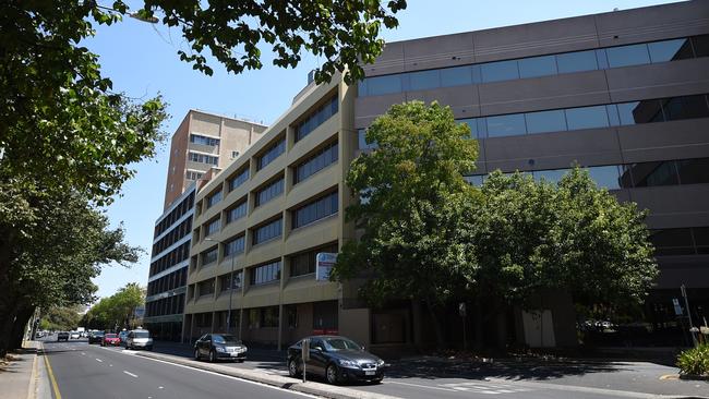
[[[352,237],[343,180],[357,154],[353,101],[354,87],[339,75],[309,84],[257,143],[200,189],[185,340],[229,330],[280,347],[339,331],[369,342],[368,311],[343,309],[339,285],[315,277],[316,254],[336,253]]]

